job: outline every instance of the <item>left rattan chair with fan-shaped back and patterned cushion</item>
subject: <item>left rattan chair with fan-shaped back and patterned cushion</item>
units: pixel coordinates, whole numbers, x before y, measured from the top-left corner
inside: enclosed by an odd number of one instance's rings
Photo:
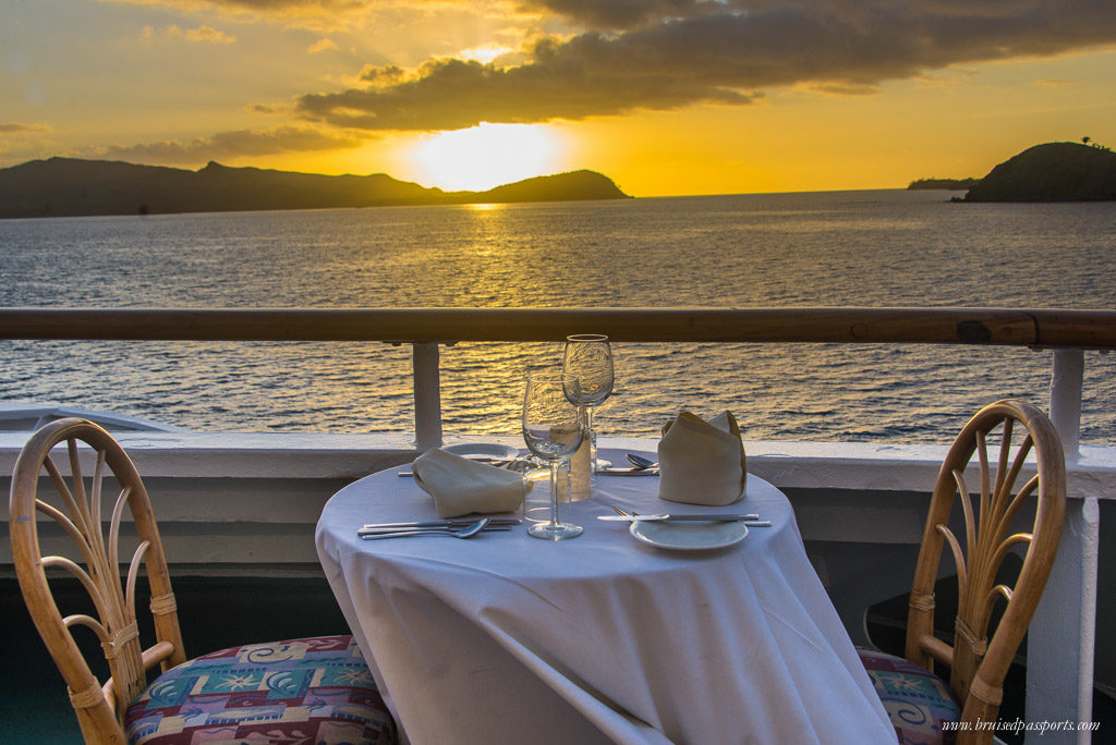
[[[66,451],[60,465],[51,457],[56,445]],[[40,494],[44,471],[54,486],[44,480],[46,495]],[[41,555],[36,513],[61,525],[76,544],[77,561]],[[65,678],[87,743],[395,741],[392,718],[350,636],[247,645],[186,659],[147,492],[132,461],[99,426],[66,418],[31,436],[12,475],[9,519],[23,599]],[[121,553],[122,542],[135,544],[131,553]],[[121,555],[131,558],[124,577]],[[135,613],[141,564],[155,635],[146,649]],[[64,617],[48,574],[77,578],[92,598],[93,615]],[[75,641],[76,627],[92,629],[100,642],[110,675],[104,684]],[[148,685],[147,670],[156,665],[162,675]]]

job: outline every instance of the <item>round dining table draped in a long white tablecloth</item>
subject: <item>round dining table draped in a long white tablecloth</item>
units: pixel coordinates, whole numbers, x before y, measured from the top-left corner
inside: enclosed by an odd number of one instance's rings
[[[709,507],[660,499],[653,474],[599,474],[567,505],[585,528],[571,540],[531,538],[522,513],[469,540],[362,539],[365,523],[437,517],[404,471],[330,497],[316,544],[405,742],[895,742],[790,502],[762,478]],[[718,548],[645,542],[629,522],[598,520],[613,505],[756,513],[770,526]]]

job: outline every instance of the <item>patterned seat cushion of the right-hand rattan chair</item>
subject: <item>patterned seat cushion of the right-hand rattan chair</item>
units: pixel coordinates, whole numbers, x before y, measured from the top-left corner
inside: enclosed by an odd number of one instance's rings
[[[856,650],[902,745],[954,742],[955,733],[942,732],[942,723],[958,722],[961,709],[941,678],[895,655]]]

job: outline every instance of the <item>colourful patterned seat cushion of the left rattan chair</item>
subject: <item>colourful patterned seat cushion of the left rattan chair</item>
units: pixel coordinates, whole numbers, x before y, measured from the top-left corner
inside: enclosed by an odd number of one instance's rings
[[[350,636],[222,649],[161,675],[125,714],[136,745],[395,742]]]

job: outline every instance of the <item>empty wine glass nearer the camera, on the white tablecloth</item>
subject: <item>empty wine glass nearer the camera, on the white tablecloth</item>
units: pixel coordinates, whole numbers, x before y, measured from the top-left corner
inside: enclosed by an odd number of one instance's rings
[[[528,528],[535,538],[561,541],[581,534],[580,525],[558,521],[558,464],[577,451],[584,437],[577,381],[561,375],[530,373],[523,394],[523,442],[531,453],[550,464],[550,522]]]

